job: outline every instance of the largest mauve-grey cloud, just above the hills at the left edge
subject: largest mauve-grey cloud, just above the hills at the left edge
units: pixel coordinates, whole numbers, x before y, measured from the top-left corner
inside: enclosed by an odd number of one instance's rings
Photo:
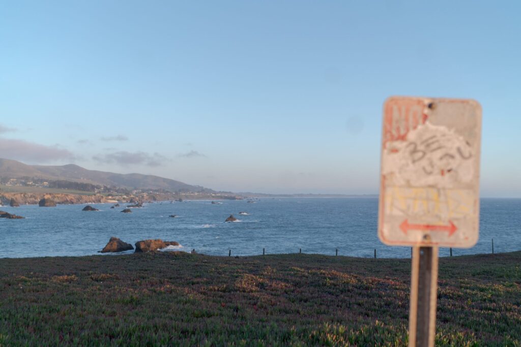
[[[72,160],[75,156],[67,149],[35,144],[25,140],[0,138],[2,157],[32,163]]]

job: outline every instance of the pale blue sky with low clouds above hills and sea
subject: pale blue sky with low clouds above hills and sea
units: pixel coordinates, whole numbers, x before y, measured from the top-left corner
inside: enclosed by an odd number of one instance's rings
[[[521,197],[521,3],[0,3],[0,157],[216,190],[378,194],[382,104],[473,98]]]

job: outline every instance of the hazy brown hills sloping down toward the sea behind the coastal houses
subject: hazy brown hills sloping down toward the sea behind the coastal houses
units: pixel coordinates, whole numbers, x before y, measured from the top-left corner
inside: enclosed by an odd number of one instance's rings
[[[87,170],[75,164],[51,166],[51,165],[27,165],[16,160],[0,159],[0,177],[7,178],[42,178],[50,181],[72,181],[91,183],[95,185],[116,186],[127,189],[165,189],[176,191],[202,191],[213,190],[201,186],[193,186],[173,179],[142,175],[137,173],[118,174]]]

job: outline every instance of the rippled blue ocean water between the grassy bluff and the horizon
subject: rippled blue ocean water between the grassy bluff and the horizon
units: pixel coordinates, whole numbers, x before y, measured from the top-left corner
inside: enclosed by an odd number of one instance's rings
[[[91,204],[53,208],[22,205],[0,209],[26,217],[0,219],[0,258],[94,255],[111,236],[132,243],[160,238],[178,241],[168,250],[210,255],[263,253],[318,253],[410,258],[408,247],[388,247],[377,236],[378,198],[262,198],[246,200],[145,203],[132,213],[127,205]],[[247,212],[247,215],[239,214]],[[169,217],[169,215],[177,217]],[[224,223],[233,214],[237,222]],[[453,255],[521,250],[521,199],[481,199],[479,241],[470,249],[453,249]],[[167,250],[167,251],[168,251]],[[124,253],[130,253],[122,252]],[[122,254],[116,253],[116,254]],[[113,254],[110,254],[113,255]],[[449,249],[441,248],[440,256]]]

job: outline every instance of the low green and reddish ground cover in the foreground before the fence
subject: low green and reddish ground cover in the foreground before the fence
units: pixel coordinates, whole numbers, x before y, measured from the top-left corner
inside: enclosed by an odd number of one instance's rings
[[[406,345],[410,260],[0,259],[0,345]],[[521,252],[440,259],[437,345],[521,345]]]

